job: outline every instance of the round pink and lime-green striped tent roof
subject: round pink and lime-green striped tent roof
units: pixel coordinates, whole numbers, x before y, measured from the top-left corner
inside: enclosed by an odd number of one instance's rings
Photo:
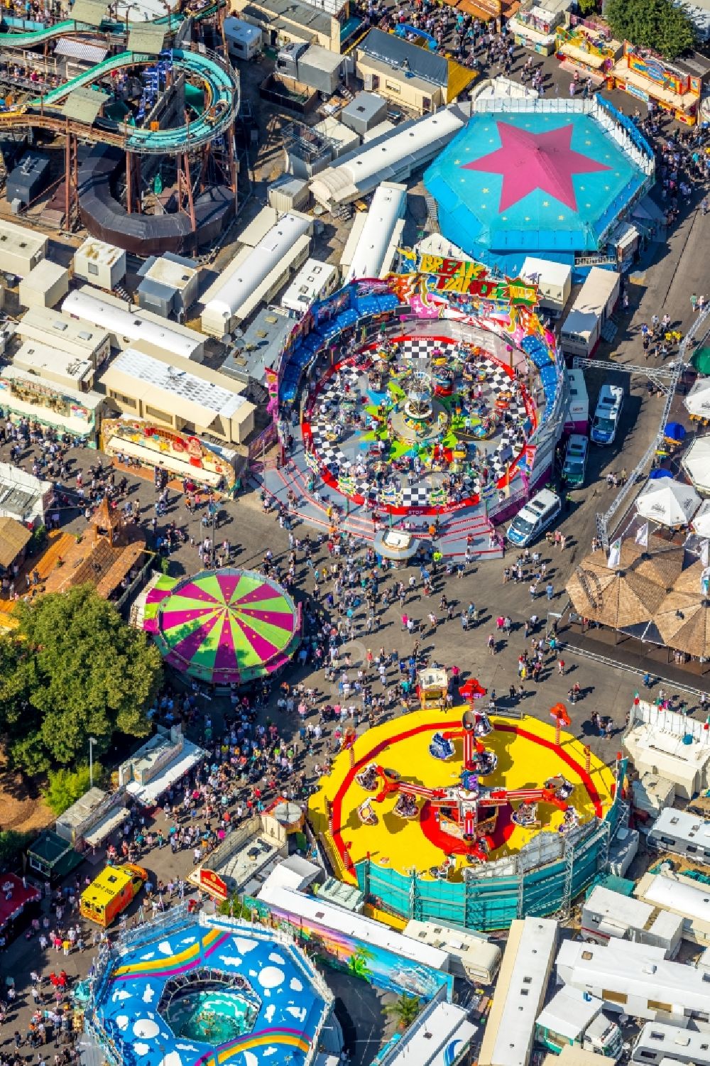
[[[204,681],[253,681],[285,665],[300,640],[300,612],[275,581],[227,567],[161,577],[148,591],[143,628],[165,662]]]

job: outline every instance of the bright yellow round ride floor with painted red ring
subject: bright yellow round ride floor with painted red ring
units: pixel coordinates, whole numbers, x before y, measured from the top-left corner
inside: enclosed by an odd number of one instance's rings
[[[425,788],[458,785],[463,769],[463,740],[455,741],[454,757],[448,761],[434,758],[429,745],[435,732],[461,730],[465,710],[465,707],[458,707],[445,712],[415,711],[368,730],[356,739],[352,755],[351,750],[343,750],[336,757],[329,776],[321,778],[318,792],[310,798],[308,818],[314,831],[322,835],[343,879],[354,882],[352,865],[368,855],[374,862],[400,873],[409,873],[415,869],[424,876],[450,856],[453,862],[449,879],[461,878],[462,870],[469,865],[467,856],[439,846],[440,821],[435,812],[426,811],[423,798],[417,800],[417,818],[399,818],[393,813],[397,793],[387,795],[378,803],[374,798],[375,793],[367,792],[355,778],[373,762],[394,771],[404,781]],[[494,715],[490,721],[494,730],[484,738],[484,743],[497,755],[498,765],[494,773],[481,778],[482,786],[509,790],[536,789],[548,778],[562,775],[575,787],[569,803],[577,811],[580,823],[607,813],[613,800],[614,773],[591,754],[587,774],[585,747],[581,741],[563,732],[558,747],[554,725],[530,715],[521,720]],[[351,765],[353,761],[354,766]],[[364,825],[358,817],[357,808],[367,798],[372,801],[371,807],[378,819],[376,825]],[[328,831],[329,810],[332,835]],[[556,831],[564,818],[561,810],[545,803],[538,805],[535,827],[516,825],[511,822],[510,813],[510,806],[499,811],[499,819],[506,819],[506,825],[497,834],[499,846],[490,853],[489,860],[516,854],[540,829]]]

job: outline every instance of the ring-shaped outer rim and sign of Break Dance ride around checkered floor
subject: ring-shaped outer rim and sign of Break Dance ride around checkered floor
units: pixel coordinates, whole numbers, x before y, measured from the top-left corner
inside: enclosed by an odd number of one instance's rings
[[[529,281],[493,276],[477,262],[404,251],[400,273],[384,279],[355,280],[313,304],[294,325],[277,368],[269,375],[272,437],[278,435],[284,443],[297,424],[300,409],[305,459],[311,474],[320,475],[328,487],[355,504],[399,517],[446,516],[485,502],[488,514],[496,512],[497,520],[502,520],[550,479],[568,399],[564,361],[536,305],[537,291]],[[511,391],[517,391],[525,407],[520,419],[525,434],[502,456],[485,501],[482,492],[459,494],[458,499],[433,492],[416,505],[382,496],[368,499],[351,477],[334,474],[313,447],[313,409],[323,390],[332,388],[334,375],[351,372],[353,366],[367,372],[367,359],[371,357],[375,364],[383,346],[424,341],[438,345],[440,357],[431,360],[431,397],[416,393],[414,405],[405,405],[401,420],[404,434],[412,430],[416,437],[413,425],[430,400],[435,407],[447,406],[453,422],[457,401],[452,394],[449,364],[463,360],[465,368],[466,359],[477,350],[484,350],[490,375],[507,375]],[[361,402],[368,402],[367,398]],[[388,409],[388,418],[390,415]],[[450,449],[455,459],[455,442]]]

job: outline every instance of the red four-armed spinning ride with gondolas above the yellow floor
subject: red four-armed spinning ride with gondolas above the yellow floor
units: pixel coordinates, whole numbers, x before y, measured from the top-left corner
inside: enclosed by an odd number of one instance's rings
[[[579,823],[579,815],[568,801],[574,785],[561,774],[549,777],[539,788],[489,787],[483,778],[489,777],[498,766],[498,756],[485,746],[483,738],[493,732],[493,725],[485,711],[470,708],[464,712],[458,729],[435,732],[429,746],[430,755],[448,761],[455,755],[455,741],[463,740],[463,768],[459,781],[453,786],[427,788],[406,781],[399,773],[386,770],[375,762],[368,763],[356,775],[357,784],[367,792],[374,792],[357,808],[360,822],[377,825],[378,817],[372,806],[374,800],[384,804],[392,795],[397,802],[392,814],[398,819],[431,818],[438,822],[441,834],[451,838],[450,850],[463,854],[468,862],[485,862],[498,845],[496,823],[502,808],[510,808],[510,819],[515,825],[539,828],[537,805],[547,804],[563,812],[558,831],[568,833]],[[418,801],[423,800],[421,810]],[[443,850],[447,850],[446,842]],[[455,859],[447,855],[443,862],[431,870],[438,877],[448,877]]]

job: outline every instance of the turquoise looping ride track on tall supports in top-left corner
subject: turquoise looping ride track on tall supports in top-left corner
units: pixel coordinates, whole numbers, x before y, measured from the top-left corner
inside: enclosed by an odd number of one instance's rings
[[[205,9],[199,13],[200,17],[205,18],[207,12],[213,13],[216,6],[213,4]],[[158,22],[161,21],[163,19],[158,19]],[[164,21],[167,22],[167,16]],[[114,25],[120,25],[123,28],[123,23]],[[67,19],[33,33],[0,34],[0,44],[29,47],[31,44],[37,45],[53,37],[75,33],[78,28],[83,32],[81,23]],[[85,29],[95,32],[92,27]],[[214,52],[184,47],[162,52],[161,58],[170,59],[176,71],[184,74],[189,80],[201,83],[205,88],[206,106],[194,120],[172,129],[151,130],[102,117],[97,117],[92,124],[67,119],[61,112],[61,104],[75,88],[92,85],[125,67],[158,61],[158,56],[155,55],[125,51],[97,63],[84,74],[71,78],[42,97],[21,103],[10,111],[0,112],[0,130],[33,126],[57,133],[74,133],[82,140],[99,144],[117,145],[125,151],[161,156],[190,151],[226,133],[239,109],[239,77],[231,66]]]

